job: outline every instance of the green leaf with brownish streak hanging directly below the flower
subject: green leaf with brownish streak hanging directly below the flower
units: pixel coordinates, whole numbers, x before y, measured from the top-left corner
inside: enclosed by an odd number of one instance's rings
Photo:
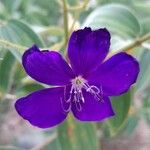
[[[58,127],[58,138],[63,150],[97,150],[94,124],[77,122],[72,116]]]

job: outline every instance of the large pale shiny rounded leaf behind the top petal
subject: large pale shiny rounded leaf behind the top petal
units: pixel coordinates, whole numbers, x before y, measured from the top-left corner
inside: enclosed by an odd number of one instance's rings
[[[121,37],[137,37],[140,24],[132,11],[119,4],[108,4],[98,7],[85,20],[83,26],[92,28],[106,27]]]

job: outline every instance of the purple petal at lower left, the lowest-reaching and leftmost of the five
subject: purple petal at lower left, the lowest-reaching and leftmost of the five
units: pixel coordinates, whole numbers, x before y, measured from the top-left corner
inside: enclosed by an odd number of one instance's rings
[[[17,112],[32,125],[48,128],[61,123],[66,117],[61,106],[63,88],[49,88],[34,92],[16,101]]]

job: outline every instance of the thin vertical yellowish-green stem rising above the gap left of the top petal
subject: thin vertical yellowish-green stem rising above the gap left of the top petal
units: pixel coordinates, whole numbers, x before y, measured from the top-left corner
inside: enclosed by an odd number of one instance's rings
[[[66,0],[62,0],[62,3],[63,3],[65,46],[66,46],[68,43],[68,8],[67,8],[67,1]]]

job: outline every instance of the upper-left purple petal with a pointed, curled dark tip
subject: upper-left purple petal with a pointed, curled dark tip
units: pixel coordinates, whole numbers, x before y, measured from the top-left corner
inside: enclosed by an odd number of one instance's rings
[[[66,85],[74,77],[59,53],[40,51],[35,45],[24,53],[22,63],[28,75],[45,84]]]

